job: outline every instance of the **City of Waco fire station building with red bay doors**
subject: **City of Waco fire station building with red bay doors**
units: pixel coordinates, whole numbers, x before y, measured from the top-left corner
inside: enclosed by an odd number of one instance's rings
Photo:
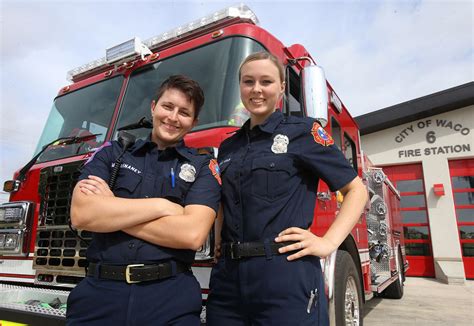
[[[408,276],[474,278],[474,82],[356,118],[401,195]]]

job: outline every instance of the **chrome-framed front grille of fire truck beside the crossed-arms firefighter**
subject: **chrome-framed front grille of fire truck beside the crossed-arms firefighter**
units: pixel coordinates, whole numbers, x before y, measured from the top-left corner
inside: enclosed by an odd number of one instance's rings
[[[40,213],[36,233],[33,268],[35,282],[48,285],[77,284],[87,266],[86,250],[92,234],[70,228],[71,198],[80,175],[82,161],[56,165],[40,173]]]

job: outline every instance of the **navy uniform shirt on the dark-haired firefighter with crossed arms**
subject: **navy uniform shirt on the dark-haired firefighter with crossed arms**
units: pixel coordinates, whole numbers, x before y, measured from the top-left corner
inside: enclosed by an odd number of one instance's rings
[[[107,183],[122,147],[116,141],[105,144],[85,164],[79,180],[95,175]],[[217,171],[210,155],[199,155],[180,142],[158,150],[151,141],[138,140],[124,155],[113,189],[122,198],[167,198],[182,206],[205,205],[216,212],[220,201]],[[171,169],[175,181],[171,177]],[[116,265],[153,263],[177,259],[192,263],[192,250],[171,249],[140,240],[122,231],[93,233],[87,259]]]

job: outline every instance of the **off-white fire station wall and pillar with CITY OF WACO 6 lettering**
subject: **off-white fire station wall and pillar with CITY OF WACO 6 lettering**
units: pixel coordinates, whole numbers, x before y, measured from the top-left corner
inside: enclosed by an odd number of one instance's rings
[[[464,282],[448,160],[474,157],[474,106],[364,135],[362,147],[379,166],[422,163],[436,277]],[[444,196],[434,194],[436,183]]]

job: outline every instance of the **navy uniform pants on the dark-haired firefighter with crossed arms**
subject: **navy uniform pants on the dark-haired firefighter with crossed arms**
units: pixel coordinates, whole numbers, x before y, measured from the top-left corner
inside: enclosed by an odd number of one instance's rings
[[[201,288],[191,272],[127,284],[86,277],[70,293],[67,325],[200,325]]]

